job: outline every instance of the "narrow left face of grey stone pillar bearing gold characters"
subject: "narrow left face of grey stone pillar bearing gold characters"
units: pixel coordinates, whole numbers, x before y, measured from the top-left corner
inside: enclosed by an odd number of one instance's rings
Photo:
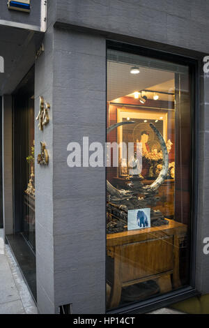
[[[52,3],[52,1],[51,1]],[[49,124],[43,131],[35,121],[35,158],[40,154],[40,142],[45,142],[49,154],[47,167],[35,161],[36,185],[36,278],[39,313],[55,313],[54,306],[54,205],[53,205],[53,77],[54,30],[48,21],[43,44],[45,51],[35,61],[35,117],[39,111],[39,97],[43,96],[51,108]]]

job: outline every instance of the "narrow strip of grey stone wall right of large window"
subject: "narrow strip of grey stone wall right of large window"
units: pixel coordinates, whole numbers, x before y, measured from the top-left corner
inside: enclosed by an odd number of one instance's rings
[[[203,253],[203,239],[209,237],[209,75],[200,76],[199,116],[199,210],[196,253],[196,288],[203,294],[209,293],[209,255]]]

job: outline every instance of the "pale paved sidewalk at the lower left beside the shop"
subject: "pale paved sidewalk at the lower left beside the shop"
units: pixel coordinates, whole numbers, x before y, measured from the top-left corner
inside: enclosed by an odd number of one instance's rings
[[[0,314],[37,314],[36,305],[0,229]]]

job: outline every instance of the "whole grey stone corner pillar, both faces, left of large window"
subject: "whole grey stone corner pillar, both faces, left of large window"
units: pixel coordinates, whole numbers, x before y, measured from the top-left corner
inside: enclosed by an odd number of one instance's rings
[[[71,141],[105,142],[105,39],[54,30],[36,61],[35,107],[39,96],[50,105],[40,141],[48,167],[36,164],[36,255],[40,313],[72,303],[73,313],[105,311],[105,168],[67,165]],[[96,301],[89,301],[94,299]]]

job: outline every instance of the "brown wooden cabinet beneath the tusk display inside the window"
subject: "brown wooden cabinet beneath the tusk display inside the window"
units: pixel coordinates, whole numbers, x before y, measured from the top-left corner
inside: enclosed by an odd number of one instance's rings
[[[160,292],[180,287],[179,248],[187,225],[169,225],[107,234],[107,283],[111,286],[108,308],[121,301],[123,287],[154,280]]]

